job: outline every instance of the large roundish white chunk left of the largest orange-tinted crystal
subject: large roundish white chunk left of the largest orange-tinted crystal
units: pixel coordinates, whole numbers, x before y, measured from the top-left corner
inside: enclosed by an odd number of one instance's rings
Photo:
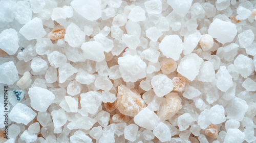
[[[84,111],[88,113],[96,113],[101,105],[100,94],[96,91],[89,91],[87,93],[81,93],[80,104]]]

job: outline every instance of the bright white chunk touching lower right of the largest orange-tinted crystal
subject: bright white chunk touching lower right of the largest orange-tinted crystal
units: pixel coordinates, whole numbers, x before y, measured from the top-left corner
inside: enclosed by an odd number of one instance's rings
[[[134,122],[140,127],[154,130],[160,123],[160,119],[154,111],[144,108],[134,117]]]

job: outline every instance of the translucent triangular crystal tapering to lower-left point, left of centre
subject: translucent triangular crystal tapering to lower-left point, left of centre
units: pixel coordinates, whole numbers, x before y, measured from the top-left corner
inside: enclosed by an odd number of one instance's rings
[[[61,65],[58,69],[59,71],[59,83],[65,82],[74,73],[77,73],[77,69],[73,67],[70,63],[65,63]]]

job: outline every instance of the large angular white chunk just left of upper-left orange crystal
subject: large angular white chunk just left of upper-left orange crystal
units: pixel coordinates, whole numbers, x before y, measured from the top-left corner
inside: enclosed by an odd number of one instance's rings
[[[26,25],[19,30],[19,33],[29,41],[42,38],[46,35],[46,31],[42,26],[42,20],[37,17],[26,23]]]

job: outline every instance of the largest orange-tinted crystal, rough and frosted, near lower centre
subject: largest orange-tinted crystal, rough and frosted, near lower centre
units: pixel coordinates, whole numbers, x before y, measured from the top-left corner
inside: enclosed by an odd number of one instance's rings
[[[140,94],[131,91],[124,85],[118,86],[115,106],[120,113],[127,116],[135,116],[146,107]]]

